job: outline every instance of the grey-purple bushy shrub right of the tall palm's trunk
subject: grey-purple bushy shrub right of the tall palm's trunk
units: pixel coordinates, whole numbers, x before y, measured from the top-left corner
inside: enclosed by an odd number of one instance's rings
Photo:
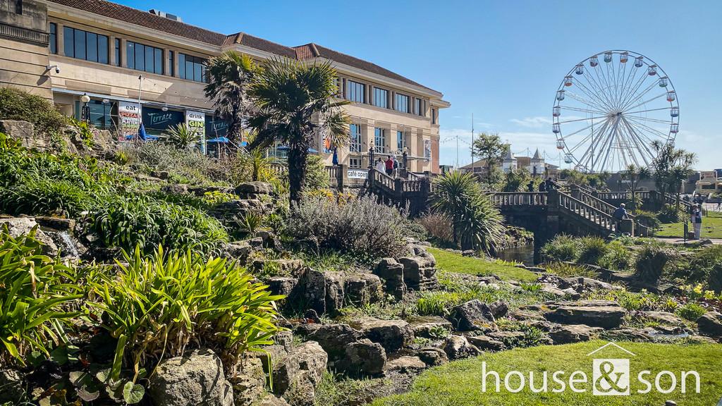
[[[291,208],[286,232],[293,238],[316,238],[323,248],[370,259],[402,254],[407,223],[399,210],[370,196],[345,204],[317,198]]]

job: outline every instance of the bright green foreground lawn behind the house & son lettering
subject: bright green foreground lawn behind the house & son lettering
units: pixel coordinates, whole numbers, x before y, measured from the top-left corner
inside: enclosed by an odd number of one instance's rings
[[[666,400],[674,400],[679,406],[715,406],[722,397],[722,345],[671,345],[621,342],[622,347],[635,353],[627,355],[614,347],[607,347],[588,357],[591,351],[604,345],[604,341],[584,342],[572,345],[542,346],[516,349],[482,355],[468,360],[455,361],[445,366],[432,368],[422,373],[414,382],[411,392],[377,399],[372,406],[663,406]],[[593,358],[630,359],[630,396],[594,396],[592,394]],[[482,362],[486,361],[487,371],[496,371],[501,377],[501,392],[495,392],[495,379],[488,377],[487,392],[482,392]],[[646,389],[638,381],[640,371],[651,371],[644,379],[651,382],[648,394],[639,394]],[[520,371],[526,377],[525,388],[518,393],[507,392],[504,377],[509,371]],[[534,372],[534,386],[542,387],[542,373],[547,371],[547,392],[534,393],[529,389],[529,371]],[[567,390],[553,393],[560,384],[552,380],[552,373],[565,371],[561,380]],[[574,371],[583,371],[587,383],[575,384],[584,393],[572,392],[569,378]],[[656,391],[655,377],[660,371],[672,371],[677,376],[677,388],[669,394]],[[700,393],[695,393],[695,379],[687,376],[687,393],[681,393],[681,371],[697,371],[700,374]],[[519,378],[513,375],[509,384],[512,389],[519,386]],[[671,378],[661,378],[662,389],[669,389]]]

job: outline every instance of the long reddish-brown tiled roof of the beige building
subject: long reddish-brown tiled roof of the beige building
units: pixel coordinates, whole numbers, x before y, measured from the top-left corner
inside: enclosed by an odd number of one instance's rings
[[[436,90],[426,87],[412,79],[401,76],[395,72],[391,72],[388,69],[382,68],[377,64],[373,64],[363,59],[358,59],[355,56],[350,56],[345,53],[334,51],[331,48],[319,46],[315,43],[308,43],[303,46],[288,47],[278,43],[264,40],[253,35],[246,33],[235,33],[225,35],[221,33],[214,33],[213,31],[206,30],[195,25],[186,24],[185,22],[170,20],[166,17],[161,17],[150,12],[144,12],[139,9],[123,6],[122,4],[112,3],[105,0],[48,0],[56,4],[61,4],[66,7],[72,7],[74,9],[83,10],[85,12],[91,12],[93,14],[99,14],[104,17],[112,18],[123,22],[129,22],[131,24],[141,25],[143,27],[151,28],[152,30],[162,31],[173,35],[178,35],[183,38],[191,40],[197,40],[202,43],[209,43],[214,46],[232,46],[238,44],[241,46],[248,46],[249,48],[258,49],[260,51],[266,51],[273,53],[274,55],[285,56],[287,58],[297,59],[300,61],[306,61],[314,58],[324,58],[331,61],[338,62],[348,66],[353,66],[358,69],[365,70],[374,74],[380,74],[384,77],[396,79],[409,85],[422,87],[426,90],[436,92]]]

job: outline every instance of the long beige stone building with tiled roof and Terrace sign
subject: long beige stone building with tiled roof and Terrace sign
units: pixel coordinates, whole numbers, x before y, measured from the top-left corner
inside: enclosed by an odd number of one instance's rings
[[[206,139],[224,135],[225,123],[204,97],[204,62],[232,50],[256,61],[334,64],[339,97],[352,102],[344,106],[353,122],[351,143],[338,151],[339,163],[366,168],[370,148],[375,156],[400,157],[405,150],[409,170],[439,172],[439,110],[449,103],[440,92],[371,62],[316,43],[290,47],[246,33],[214,33],[172,14],[103,0],[0,4],[0,86],[51,98],[77,118],[88,95],[92,124],[121,137],[135,134],[139,111],[149,134],[186,123],[204,129]],[[330,165],[321,136],[317,142]]]

